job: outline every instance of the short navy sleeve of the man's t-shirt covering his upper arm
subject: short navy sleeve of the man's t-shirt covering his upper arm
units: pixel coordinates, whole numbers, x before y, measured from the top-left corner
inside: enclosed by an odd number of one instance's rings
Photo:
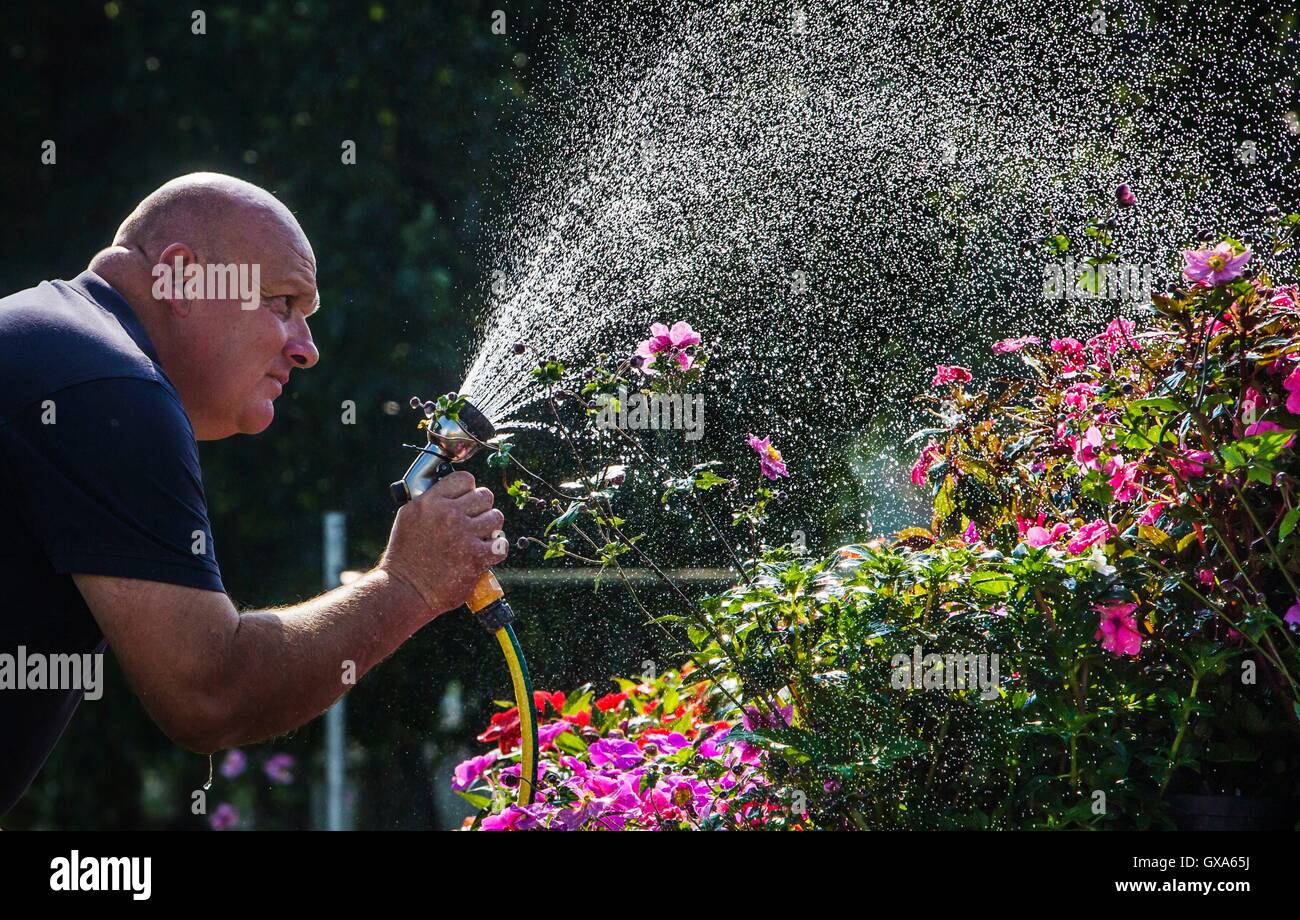
[[[60,390],[0,426],[0,450],[57,572],[225,591],[194,430],[162,383]]]

